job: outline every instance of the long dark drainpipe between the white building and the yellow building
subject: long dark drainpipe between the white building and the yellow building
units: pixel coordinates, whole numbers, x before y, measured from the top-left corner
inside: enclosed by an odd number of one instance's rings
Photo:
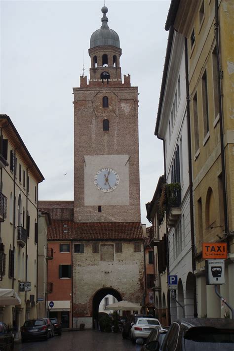
[[[189,68],[188,68],[188,44],[185,38],[185,75],[186,75],[186,100],[187,100],[187,128],[188,128],[188,152],[189,152],[189,194],[190,194],[190,222],[191,222],[191,246],[192,246],[192,269],[194,277],[194,316],[197,317],[196,302],[196,269],[195,262],[195,230],[194,230],[194,203],[193,203],[193,177],[192,177],[192,149],[191,149],[191,124],[190,124],[190,98],[189,98]]]

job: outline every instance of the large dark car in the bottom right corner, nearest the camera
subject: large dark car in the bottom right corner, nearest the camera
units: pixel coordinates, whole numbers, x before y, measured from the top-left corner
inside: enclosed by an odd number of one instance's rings
[[[225,318],[183,318],[171,323],[160,349],[151,341],[152,351],[233,351],[234,320]]]

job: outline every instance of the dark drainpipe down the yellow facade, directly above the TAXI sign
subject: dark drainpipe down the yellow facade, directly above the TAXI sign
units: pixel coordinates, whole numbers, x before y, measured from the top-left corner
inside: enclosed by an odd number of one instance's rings
[[[227,198],[227,177],[225,166],[225,147],[224,147],[224,121],[223,121],[223,104],[222,104],[222,70],[220,59],[220,38],[219,38],[219,3],[215,0],[215,40],[217,49],[217,73],[218,73],[218,93],[219,93],[219,121],[220,121],[220,148],[221,148],[221,167],[223,178],[223,202],[224,202],[224,225],[225,235],[229,233],[228,219],[228,198]]]

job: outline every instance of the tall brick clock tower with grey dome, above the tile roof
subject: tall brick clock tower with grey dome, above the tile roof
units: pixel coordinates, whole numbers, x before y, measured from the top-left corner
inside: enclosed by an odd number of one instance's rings
[[[140,222],[138,88],[122,81],[107,12],[90,39],[90,79],[73,88],[74,221]]]

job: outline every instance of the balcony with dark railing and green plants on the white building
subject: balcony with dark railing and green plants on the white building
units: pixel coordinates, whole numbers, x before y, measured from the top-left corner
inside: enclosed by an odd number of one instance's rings
[[[168,227],[175,227],[181,217],[180,183],[166,184],[166,222]]]

